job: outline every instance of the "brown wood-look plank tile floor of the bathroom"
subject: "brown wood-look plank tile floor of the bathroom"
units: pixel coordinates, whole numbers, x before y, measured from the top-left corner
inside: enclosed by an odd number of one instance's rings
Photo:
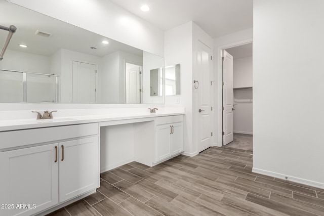
[[[252,151],[211,147],[101,174],[97,192],[50,215],[324,215],[324,190],[252,173]]]

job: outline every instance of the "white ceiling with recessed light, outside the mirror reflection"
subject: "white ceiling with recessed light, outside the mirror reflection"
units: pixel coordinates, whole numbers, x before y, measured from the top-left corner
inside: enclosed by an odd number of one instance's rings
[[[162,30],[194,21],[215,38],[253,27],[253,0],[110,1]],[[148,5],[150,11],[142,12],[142,5]]]

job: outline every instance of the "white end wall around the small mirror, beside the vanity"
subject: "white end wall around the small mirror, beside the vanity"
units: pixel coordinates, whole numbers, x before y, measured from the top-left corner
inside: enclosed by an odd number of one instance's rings
[[[180,64],[180,95],[167,96],[166,105],[185,107],[183,118],[184,152],[191,154],[192,147],[192,22],[165,32],[165,64]]]

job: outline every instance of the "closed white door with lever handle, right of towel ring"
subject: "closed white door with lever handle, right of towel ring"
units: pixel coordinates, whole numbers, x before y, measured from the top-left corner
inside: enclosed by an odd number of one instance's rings
[[[211,49],[198,42],[198,152],[212,146],[211,139]]]

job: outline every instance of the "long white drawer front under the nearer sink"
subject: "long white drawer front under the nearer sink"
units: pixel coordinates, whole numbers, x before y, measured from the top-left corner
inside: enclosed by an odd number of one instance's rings
[[[0,133],[0,150],[99,134],[99,124],[75,124]]]

